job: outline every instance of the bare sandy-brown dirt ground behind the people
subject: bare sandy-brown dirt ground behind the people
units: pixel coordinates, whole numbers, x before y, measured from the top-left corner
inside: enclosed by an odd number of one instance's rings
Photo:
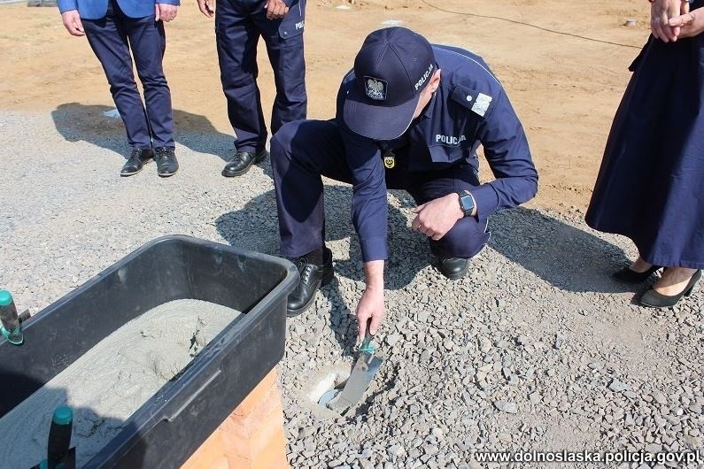
[[[540,173],[539,193],[530,204],[584,209],[630,76],[627,67],[649,34],[646,2],[584,0],[577,9],[575,2],[558,0],[352,1],[309,0],[309,117],[333,115],[339,81],[367,33],[384,27],[384,21],[401,21],[431,42],[482,55],[503,82]],[[626,19],[636,25],[623,26]],[[177,133],[231,134],[213,20],[188,0],[166,28],[166,77],[174,109],[181,111]],[[50,112],[66,104],[112,104],[88,43],[66,33],[55,8],[0,5],[0,62],[4,109]],[[274,86],[261,44],[259,62],[259,87],[268,109]],[[95,117],[77,124],[91,127]]]

